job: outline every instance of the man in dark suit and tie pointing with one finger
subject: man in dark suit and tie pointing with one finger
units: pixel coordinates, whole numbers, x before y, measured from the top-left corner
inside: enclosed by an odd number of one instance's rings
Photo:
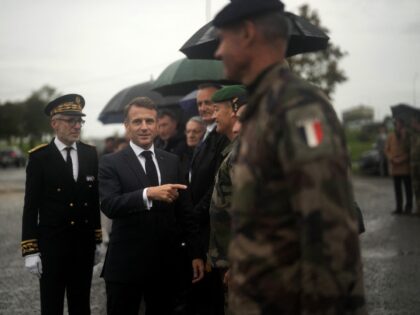
[[[171,314],[177,246],[186,234],[193,282],[204,266],[195,240],[187,186],[177,156],[156,149],[156,106],[147,97],[125,109],[127,148],[102,157],[99,191],[102,211],[113,220],[102,271],[108,314],[138,314],[144,297],[146,314]]]

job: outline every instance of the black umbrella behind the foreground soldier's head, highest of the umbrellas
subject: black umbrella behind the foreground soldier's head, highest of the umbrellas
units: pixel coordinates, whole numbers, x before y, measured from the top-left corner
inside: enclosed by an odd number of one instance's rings
[[[287,57],[327,48],[329,37],[324,31],[301,16],[290,12],[285,14],[291,27]],[[209,22],[195,32],[180,51],[190,59],[215,59],[218,46],[217,31]]]

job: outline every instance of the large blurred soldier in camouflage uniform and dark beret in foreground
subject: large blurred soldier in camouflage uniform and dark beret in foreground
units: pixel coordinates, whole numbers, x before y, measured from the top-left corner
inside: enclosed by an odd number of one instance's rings
[[[278,0],[233,0],[213,20],[229,79],[248,86],[233,169],[234,314],[366,314],[348,153],[325,95],[283,66]]]

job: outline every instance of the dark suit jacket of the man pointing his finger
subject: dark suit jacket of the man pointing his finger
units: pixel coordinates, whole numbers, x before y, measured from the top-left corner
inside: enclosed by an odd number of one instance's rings
[[[155,148],[161,184],[183,183],[177,156]],[[112,222],[102,275],[107,281],[130,283],[161,273],[174,264],[182,232],[191,255],[198,257],[194,239],[197,224],[191,214],[188,191],[174,203],[153,201],[147,210],[143,190],[148,178],[130,146],[104,155],[99,163],[101,210]]]

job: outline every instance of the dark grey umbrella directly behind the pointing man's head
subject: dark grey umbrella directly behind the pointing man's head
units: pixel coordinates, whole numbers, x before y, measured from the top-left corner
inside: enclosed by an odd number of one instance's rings
[[[152,81],[136,84],[115,94],[99,114],[103,124],[122,123],[124,121],[124,107],[137,96],[151,98],[158,108],[173,108],[179,111],[179,96],[162,96],[152,90]]]

